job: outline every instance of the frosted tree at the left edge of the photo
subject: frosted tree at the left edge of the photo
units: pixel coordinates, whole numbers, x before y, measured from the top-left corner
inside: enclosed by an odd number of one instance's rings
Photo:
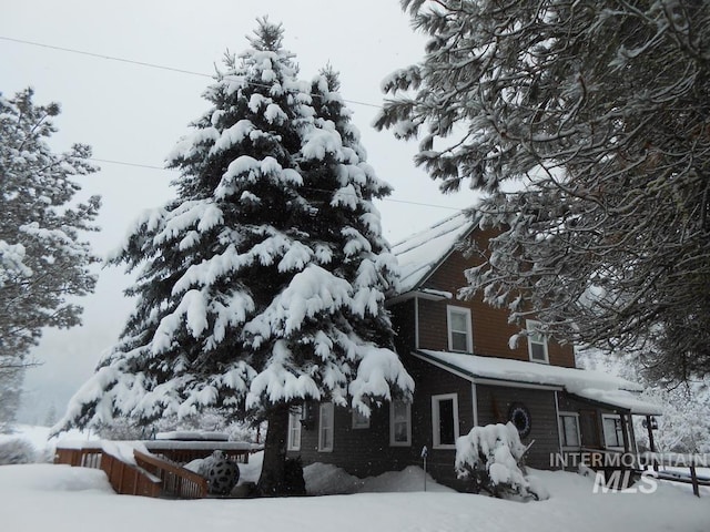
[[[91,149],[52,153],[59,105],[36,105],[32,95],[0,94],[0,368],[27,365],[43,327],[80,324],[82,309],[68,298],[95,285],[88,269],[95,258],[80,238],[97,229],[100,200],[72,205],[80,190],[72,177],[95,172]]]

